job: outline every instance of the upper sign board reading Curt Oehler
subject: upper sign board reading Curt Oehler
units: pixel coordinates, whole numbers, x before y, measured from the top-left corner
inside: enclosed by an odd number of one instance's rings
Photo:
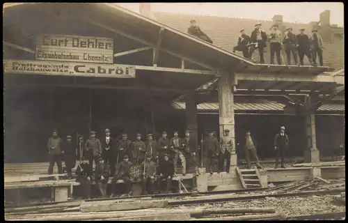
[[[36,38],[36,59],[112,64],[113,39],[41,34]]]

